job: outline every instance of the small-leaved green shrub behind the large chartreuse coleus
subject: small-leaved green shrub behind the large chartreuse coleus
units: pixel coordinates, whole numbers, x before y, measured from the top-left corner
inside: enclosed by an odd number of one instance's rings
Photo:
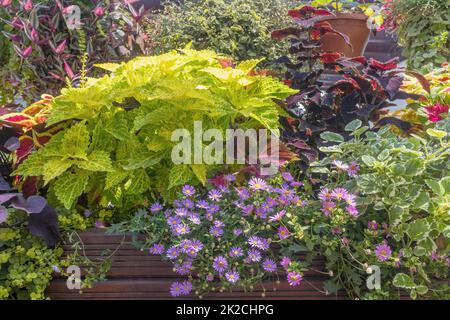
[[[291,0],[187,0],[169,2],[157,14],[147,32],[156,53],[192,42],[195,49],[211,49],[237,61],[278,58],[287,50],[270,38],[270,32],[286,26]]]

